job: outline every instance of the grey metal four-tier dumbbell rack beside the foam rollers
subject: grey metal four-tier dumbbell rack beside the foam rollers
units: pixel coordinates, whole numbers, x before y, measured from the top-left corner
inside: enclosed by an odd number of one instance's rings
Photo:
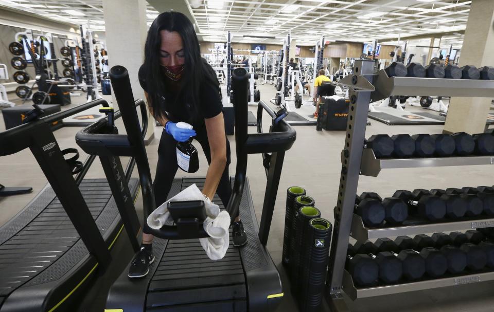
[[[344,149],[341,153],[337,206],[334,208],[334,227],[328,265],[326,299],[331,310],[348,311],[342,292],[352,299],[390,295],[407,291],[454,286],[494,280],[494,272],[475,272],[402,284],[383,284],[360,288],[354,285],[345,270],[349,237],[364,242],[368,238],[413,235],[443,231],[469,230],[494,226],[494,218],[464,218],[442,223],[405,222],[401,226],[368,228],[360,216],[354,214],[355,194],[360,175],[377,176],[381,169],[442,166],[492,165],[494,157],[467,156],[443,158],[376,159],[371,149],[364,149],[364,138],[369,104],[392,95],[461,96],[494,98],[494,81],[388,77],[384,70],[376,72],[372,60],[358,60],[354,75],[345,77],[340,84],[349,87],[349,114]],[[351,234],[350,234],[351,232]]]

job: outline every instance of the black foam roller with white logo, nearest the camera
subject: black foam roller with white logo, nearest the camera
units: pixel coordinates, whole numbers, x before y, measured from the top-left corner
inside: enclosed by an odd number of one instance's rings
[[[299,309],[320,311],[324,297],[326,269],[329,261],[331,223],[323,218],[313,218],[307,227],[306,253],[301,256],[301,291]]]

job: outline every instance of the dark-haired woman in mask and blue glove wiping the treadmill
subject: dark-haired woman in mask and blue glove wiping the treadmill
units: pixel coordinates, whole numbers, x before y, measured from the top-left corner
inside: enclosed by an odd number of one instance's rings
[[[139,82],[145,91],[151,115],[164,125],[158,146],[154,178],[156,207],[163,204],[177,173],[177,142],[196,139],[209,163],[202,193],[205,200],[215,192],[226,207],[232,187],[228,176],[230,143],[226,139],[221,91],[216,73],[201,58],[199,41],[192,24],[179,12],[164,12],[149,28],[144,64],[139,68]],[[187,122],[192,130],[177,127]],[[149,272],[154,261],[153,235],[143,227],[143,242],[129,269],[130,278]],[[237,216],[233,224],[233,242],[242,246],[247,235]]]

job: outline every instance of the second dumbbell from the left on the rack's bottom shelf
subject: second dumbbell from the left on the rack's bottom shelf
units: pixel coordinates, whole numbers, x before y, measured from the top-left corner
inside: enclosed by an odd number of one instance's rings
[[[373,243],[357,242],[353,246],[355,252],[369,255],[379,266],[379,279],[384,283],[396,283],[402,276],[402,264],[396,256],[389,251],[380,252]]]

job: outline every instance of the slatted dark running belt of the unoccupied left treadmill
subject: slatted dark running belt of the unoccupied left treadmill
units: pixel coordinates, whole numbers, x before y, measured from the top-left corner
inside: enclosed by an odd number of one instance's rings
[[[137,179],[129,184],[131,194],[135,196]],[[115,209],[118,214],[106,179],[84,179],[79,189],[95,220],[100,215],[115,219],[114,213],[111,216],[108,212],[102,213]],[[111,219],[100,227],[103,233],[109,228],[109,221]],[[87,254],[79,234],[49,186],[0,227],[0,233],[0,307],[4,301],[9,301],[7,297],[17,288],[56,280]],[[78,249],[78,256],[70,256],[65,261],[67,255],[74,252],[71,249]]]

